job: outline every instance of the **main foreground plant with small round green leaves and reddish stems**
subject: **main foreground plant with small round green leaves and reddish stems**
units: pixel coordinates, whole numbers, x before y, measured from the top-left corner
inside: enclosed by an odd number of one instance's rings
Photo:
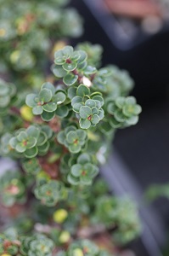
[[[127,72],[88,64],[92,47],[56,51],[54,83],[27,96],[1,80],[0,151],[18,163],[0,181],[3,256],[119,255],[140,233],[135,204],[95,177],[116,129],[135,125],[141,107],[127,96]]]

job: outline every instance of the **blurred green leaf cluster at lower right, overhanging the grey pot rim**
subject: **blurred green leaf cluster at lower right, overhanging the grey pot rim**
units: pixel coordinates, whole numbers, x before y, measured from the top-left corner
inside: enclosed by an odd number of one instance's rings
[[[132,241],[140,233],[136,205],[128,198],[100,196],[96,201],[95,214],[108,229],[118,227],[113,237],[119,243]]]

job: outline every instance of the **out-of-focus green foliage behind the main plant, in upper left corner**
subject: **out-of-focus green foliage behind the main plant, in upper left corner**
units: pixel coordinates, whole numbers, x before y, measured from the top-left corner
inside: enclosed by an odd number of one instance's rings
[[[26,84],[36,83],[35,76],[45,79],[42,69],[46,67],[46,57],[50,58],[59,47],[59,41],[54,42],[82,34],[80,15],[76,9],[65,9],[66,3],[67,0],[20,0],[18,4],[0,1],[0,73],[12,71],[19,84],[22,77]]]

